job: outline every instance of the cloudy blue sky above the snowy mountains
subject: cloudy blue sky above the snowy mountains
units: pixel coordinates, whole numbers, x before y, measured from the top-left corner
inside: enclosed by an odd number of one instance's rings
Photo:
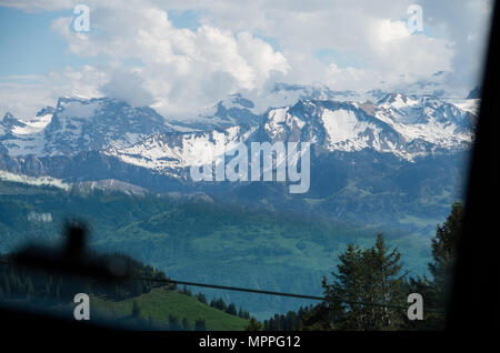
[[[410,33],[406,0],[88,0],[91,29],[77,33],[80,2],[0,0],[0,113],[72,93],[190,113],[273,82],[461,97],[479,83],[491,11],[422,0],[423,31]]]

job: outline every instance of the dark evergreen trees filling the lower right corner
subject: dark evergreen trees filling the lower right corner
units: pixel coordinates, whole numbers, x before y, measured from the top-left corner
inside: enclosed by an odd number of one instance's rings
[[[438,224],[431,240],[432,261],[429,262],[430,278],[409,276],[401,264],[401,254],[389,249],[383,235],[378,234],[371,248],[361,249],[349,244],[339,256],[337,271],[331,282],[323,276],[324,301],[287,314],[276,314],[263,324],[253,320],[247,330],[443,330],[446,329],[447,300],[451,293],[457,242],[461,236],[463,220],[462,204],[457,202],[443,224]],[[410,293],[423,297],[423,320],[410,321],[404,310],[373,306],[408,306]],[[343,302],[367,303],[349,304]],[[432,311],[429,311],[432,310]],[[434,312],[436,311],[436,312]]]

